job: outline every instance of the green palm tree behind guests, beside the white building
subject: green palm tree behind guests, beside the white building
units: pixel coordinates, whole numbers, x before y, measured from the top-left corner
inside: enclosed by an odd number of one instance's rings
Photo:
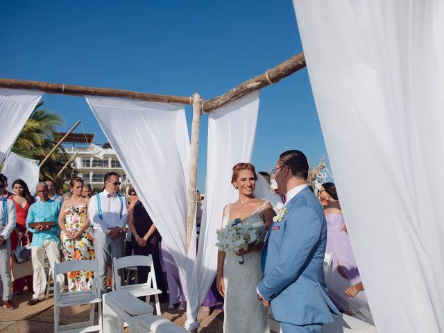
[[[31,117],[17,137],[15,144],[12,146],[12,151],[23,157],[32,158],[33,160],[43,160],[44,157],[56,145],[56,127],[63,124],[62,118],[53,112],[42,108],[43,101],[37,103]],[[67,169],[59,178],[56,177],[58,171],[63,167],[67,160],[67,153],[60,147],[57,153],[53,153],[51,157],[40,168],[40,179],[53,180],[56,187],[62,187],[67,176],[71,173]]]

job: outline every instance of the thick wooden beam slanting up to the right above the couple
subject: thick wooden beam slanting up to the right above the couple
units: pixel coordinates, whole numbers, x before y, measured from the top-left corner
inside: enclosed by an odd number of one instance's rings
[[[208,113],[212,110],[216,110],[226,103],[240,99],[249,92],[253,92],[254,90],[262,89],[263,87],[277,83],[282,78],[290,76],[305,66],[304,53],[298,53],[296,56],[293,56],[280,63],[275,68],[268,69],[268,71],[266,71],[264,74],[255,76],[254,78],[250,78],[250,80],[241,83],[237,87],[231,89],[229,92],[215,97],[214,99],[210,99],[209,101],[204,101],[202,106],[203,112]]]

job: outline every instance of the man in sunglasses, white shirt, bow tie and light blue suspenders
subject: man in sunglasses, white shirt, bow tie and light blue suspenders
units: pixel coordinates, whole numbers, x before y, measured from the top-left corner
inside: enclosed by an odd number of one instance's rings
[[[108,172],[105,175],[105,189],[89,200],[89,219],[94,225],[94,250],[99,261],[101,293],[106,292],[106,273],[108,262],[113,257],[120,258],[125,247],[125,237],[122,228],[128,220],[126,201],[119,191],[117,173]]]

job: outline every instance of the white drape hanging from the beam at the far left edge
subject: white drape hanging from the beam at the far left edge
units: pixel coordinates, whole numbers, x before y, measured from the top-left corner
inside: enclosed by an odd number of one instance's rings
[[[43,92],[0,88],[0,163],[42,98]]]

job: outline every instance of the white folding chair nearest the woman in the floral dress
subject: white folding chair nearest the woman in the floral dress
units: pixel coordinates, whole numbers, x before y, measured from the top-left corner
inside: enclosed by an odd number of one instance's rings
[[[101,293],[99,286],[99,262],[94,260],[71,260],[54,265],[54,277],[72,271],[92,271],[94,274],[92,289],[89,291],[60,292],[60,282],[56,278],[54,288],[54,332],[103,332]],[[99,325],[94,325],[94,305],[99,303]],[[74,305],[91,305],[89,309],[89,321],[60,325],[60,307],[71,307]]]

